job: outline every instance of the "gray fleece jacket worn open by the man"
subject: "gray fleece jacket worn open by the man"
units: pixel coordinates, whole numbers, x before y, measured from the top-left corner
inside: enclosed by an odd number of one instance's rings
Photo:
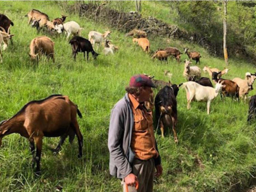
[[[135,157],[130,147],[133,124],[131,103],[126,93],[111,111],[108,131],[109,171],[111,175],[120,179],[132,172],[131,164]],[[160,155],[154,160],[155,165],[161,164]]]

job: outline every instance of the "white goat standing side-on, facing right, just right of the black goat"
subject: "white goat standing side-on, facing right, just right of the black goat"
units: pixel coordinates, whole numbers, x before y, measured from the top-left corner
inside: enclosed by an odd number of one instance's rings
[[[181,83],[179,87],[186,89],[187,93],[187,101],[188,101],[188,106],[187,108],[190,109],[190,103],[192,100],[196,101],[203,101],[207,102],[207,114],[210,114],[210,104],[211,101],[217,97],[219,92],[221,91],[222,87],[225,87],[223,85],[223,82],[218,82],[215,85],[215,88],[213,87],[208,87],[208,86],[202,86],[196,82],[193,81],[188,81],[186,83]]]

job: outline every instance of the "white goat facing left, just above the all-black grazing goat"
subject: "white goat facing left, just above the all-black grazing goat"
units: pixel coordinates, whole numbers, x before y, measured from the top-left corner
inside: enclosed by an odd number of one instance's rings
[[[79,24],[76,23],[75,21],[69,21],[69,22],[66,22],[64,24],[60,24],[60,25],[55,26],[55,30],[58,33],[62,33],[63,31],[65,31],[65,33],[67,33],[67,38],[66,38],[67,40],[68,40],[68,38],[70,37],[71,34],[81,36],[81,30],[82,29],[83,28],[81,28],[79,26]]]

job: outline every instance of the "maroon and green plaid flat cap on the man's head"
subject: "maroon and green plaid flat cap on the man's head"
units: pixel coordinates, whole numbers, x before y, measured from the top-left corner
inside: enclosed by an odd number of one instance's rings
[[[134,75],[130,79],[130,87],[156,87],[152,80],[146,75]]]

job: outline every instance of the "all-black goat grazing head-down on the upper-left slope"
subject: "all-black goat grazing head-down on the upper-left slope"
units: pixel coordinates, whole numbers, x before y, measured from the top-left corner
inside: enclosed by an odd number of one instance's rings
[[[85,51],[86,51],[87,61],[89,57],[89,52],[92,53],[92,56],[94,59],[96,59],[96,57],[99,55],[93,50],[91,43],[87,39],[84,39],[82,37],[74,36],[69,41],[69,44],[71,44],[71,47],[72,47],[72,54],[73,54],[74,60],[78,52],[83,52],[83,58],[85,59]]]

